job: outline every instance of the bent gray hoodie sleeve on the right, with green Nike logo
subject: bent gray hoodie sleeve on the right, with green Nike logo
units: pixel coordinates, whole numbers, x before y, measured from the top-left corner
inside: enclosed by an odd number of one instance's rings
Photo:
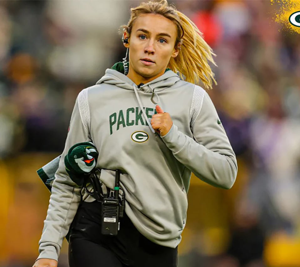
[[[174,157],[199,179],[230,189],[237,175],[235,153],[206,91],[191,130],[194,139],[179,131],[173,123],[162,139]]]

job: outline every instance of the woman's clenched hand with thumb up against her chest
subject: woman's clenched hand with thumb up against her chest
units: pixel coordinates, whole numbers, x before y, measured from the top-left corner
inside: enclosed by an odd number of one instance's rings
[[[156,105],[157,114],[154,114],[151,118],[152,128],[160,134],[160,136],[164,136],[170,131],[173,121],[168,112],[163,112],[162,108],[159,105]]]

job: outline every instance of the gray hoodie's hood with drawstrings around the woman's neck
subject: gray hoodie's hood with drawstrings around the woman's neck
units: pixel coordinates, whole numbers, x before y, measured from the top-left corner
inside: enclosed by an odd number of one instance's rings
[[[157,92],[165,89],[166,87],[174,85],[178,80],[180,80],[179,76],[174,73],[170,69],[166,69],[165,73],[156,79],[141,85],[139,88],[137,85],[130,80],[126,75],[123,74],[124,69],[122,62],[116,63],[111,69],[106,69],[105,75],[97,81],[97,84],[101,83],[106,83],[106,84],[111,84],[111,85],[116,85],[120,88],[126,89],[126,90],[133,90],[135,92],[137,102],[142,110],[143,116],[145,120],[147,121],[147,124],[150,128],[150,130],[155,133],[154,129],[151,126],[151,123],[146,116],[146,112],[143,108],[142,102],[139,98],[138,91],[142,91],[145,93],[151,93],[151,101],[153,104],[158,104],[159,103],[159,96]]]

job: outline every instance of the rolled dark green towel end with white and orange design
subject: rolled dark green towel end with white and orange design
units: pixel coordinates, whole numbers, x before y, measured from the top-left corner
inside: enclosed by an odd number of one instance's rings
[[[91,142],[78,143],[69,149],[65,156],[66,171],[78,185],[83,183],[83,176],[96,166],[98,151]]]

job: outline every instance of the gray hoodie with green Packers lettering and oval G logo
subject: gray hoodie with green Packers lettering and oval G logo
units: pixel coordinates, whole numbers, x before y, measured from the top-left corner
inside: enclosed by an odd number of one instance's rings
[[[155,106],[168,112],[173,126],[160,136],[150,123]],[[92,141],[99,157],[99,179],[114,186],[120,169],[125,211],[145,237],[175,248],[186,223],[191,172],[213,186],[229,189],[235,182],[235,154],[209,95],[168,70],[155,80],[135,85],[114,69],[75,102],[65,149],[55,173],[39,258],[58,259],[63,238],[80,203],[81,188],[65,171],[71,146]],[[94,199],[86,193],[85,201]],[[121,226],[122,227],[122,222]]]

